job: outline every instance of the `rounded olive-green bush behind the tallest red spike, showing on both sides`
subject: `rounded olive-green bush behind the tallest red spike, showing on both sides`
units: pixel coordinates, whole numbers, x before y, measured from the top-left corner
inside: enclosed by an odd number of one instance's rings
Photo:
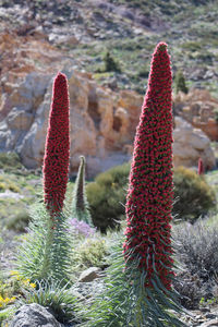
[[[130,164],[113,167],[98,174],[86,187],[94,225],[105,232],[119,226],[124,215]],[[177,219],[195,221],[216,206],[215,192],[203,175],[179,167],[174,169],[174,205]]]

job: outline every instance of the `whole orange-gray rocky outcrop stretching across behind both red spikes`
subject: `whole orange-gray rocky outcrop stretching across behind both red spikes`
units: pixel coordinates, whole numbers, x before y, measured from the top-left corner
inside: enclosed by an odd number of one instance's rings
[[[80,155],[86,157],[89,178],[129,160],[143,96],[130,89],[112,90],[98,85],[90,74],[76,71],[77,61],[68,52],[49,44],[43,33],[33,33],[26,36],[15,32],[0,34],[0,150],[17,152],[27,168],[41,166],[51,82],[60,70],[68,75],[70,87],[71,172],[76,171]],[[201,104],[203,108],[206,101],[203,94],[195,92],[194,96],[177,98],[175,108],[180,113],[187,112],[185,106],[195,108]],[[215,107],[217,102],[208,100],[207,94],[206,104]],[[190,116],[184,118],[194,122]],[[199,126],[203,129],[202,123]],[[209,140],[196,150],[195,142],[190,143],[191,135],[185,137],[186,130],[179,129],[175,132],[179,136],[174,137],[174,164],[196,166],[201,156],[211,168],[215,159]],[[211,130],[208,128],[208,131]],[[195,140],[204,138],[201,131],[194,133]]]

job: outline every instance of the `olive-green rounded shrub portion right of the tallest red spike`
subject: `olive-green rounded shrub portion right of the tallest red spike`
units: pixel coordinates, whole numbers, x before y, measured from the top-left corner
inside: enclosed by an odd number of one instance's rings
[[[178,218],[194,221],[215,207],[215,192],[195,171],[184,167],[174,169],[173,183],[175,203],[172,213]]]

